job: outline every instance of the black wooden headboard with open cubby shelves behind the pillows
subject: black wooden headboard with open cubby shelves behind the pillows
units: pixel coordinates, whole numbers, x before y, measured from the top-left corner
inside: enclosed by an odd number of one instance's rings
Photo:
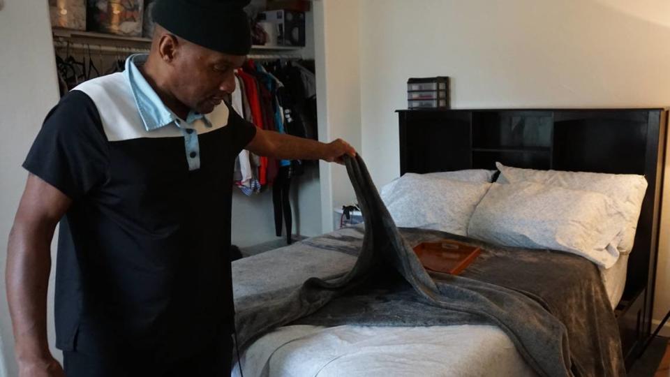
[[[399,110],[400,170],[518,168],[644,175],[617,308],[627,365],[650,334],[667,109]]]

